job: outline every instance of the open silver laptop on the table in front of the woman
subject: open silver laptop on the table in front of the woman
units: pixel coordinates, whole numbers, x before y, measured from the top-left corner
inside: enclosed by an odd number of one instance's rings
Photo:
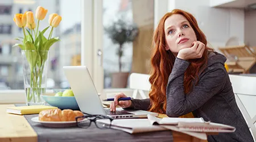
[[[91,115],[108,115],[112,118],[147,118],[147,114],[157,113],[143,110],[123,110],[117,107],[116,112],[104,108],[86,66],[63,66],[65,77],[73,90],[77,104],[82,112]]]

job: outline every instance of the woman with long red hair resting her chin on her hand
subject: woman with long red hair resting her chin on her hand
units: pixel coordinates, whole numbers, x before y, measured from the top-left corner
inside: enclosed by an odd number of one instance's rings
[[[177,117],[192,112],[196,118],[236,127],[234,133],[209,135],[208,141],[253,141],[237,106],[226,58],[213,52],[196,19],[188,12],[172,10],[160,20],[154,34],[149,99],[117,101],[125,109],[149,110]]]

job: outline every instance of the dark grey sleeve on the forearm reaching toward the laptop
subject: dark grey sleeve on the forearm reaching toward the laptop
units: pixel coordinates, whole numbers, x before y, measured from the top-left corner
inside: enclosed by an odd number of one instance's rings
[[[147,111],[149,108],[150,108],[150,99],[132,99],[131,106],[123,109]]]

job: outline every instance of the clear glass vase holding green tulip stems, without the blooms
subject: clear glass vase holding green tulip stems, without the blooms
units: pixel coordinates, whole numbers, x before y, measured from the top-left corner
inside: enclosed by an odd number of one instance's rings
[[[26,105],[44,105],[49,51],[22,51],[22,66]]]

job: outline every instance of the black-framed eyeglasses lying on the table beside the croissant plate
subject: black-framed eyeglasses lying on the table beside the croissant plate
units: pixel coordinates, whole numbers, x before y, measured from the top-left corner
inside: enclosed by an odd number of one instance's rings
[[[104,115],[84,115],[76,117],[76,124],[81,128],[88,128],[94,122],[97,128],[108,129],[114,119]]]

